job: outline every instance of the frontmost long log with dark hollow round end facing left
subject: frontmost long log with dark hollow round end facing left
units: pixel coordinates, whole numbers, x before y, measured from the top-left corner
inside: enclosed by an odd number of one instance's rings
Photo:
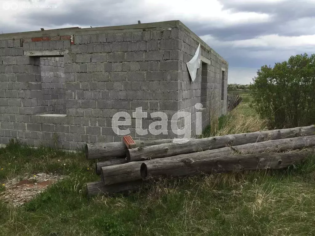
[[[159,177],[184,177],[221,172],[282,169],[300,163],[310,151],[295,153],[263,153],[206,158],[163,158],[141,164],[143,180]]]

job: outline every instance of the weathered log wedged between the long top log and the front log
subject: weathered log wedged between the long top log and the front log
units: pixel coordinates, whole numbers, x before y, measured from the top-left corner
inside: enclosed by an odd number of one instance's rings
[[[278,140],[269,140],[261,143],[247,143],[234,147],[224,147],[219,149],[206,150],[201,152],[181,154],[172,157],[166,157],[167,160],[184,160],[191,158],[205,159],[209,157],[220,157],[232,154],[257,154],[269,152],[283,152],[291,149],[302,149],[306,147],[315,146],[315,135],[304,136],[297,138],[285,138]],[[162,158],[165,159],[165,158]],[[161,160],[162,160],[161,159]],[[160,160],[160,159],[156,159]],[[115,183],[123,183],[141,179],[139,173],[142,163],[152,162],[153,160],[146,161],[133,161],[118,166],[104,166],[101,167],[101,179],[104,185]]]

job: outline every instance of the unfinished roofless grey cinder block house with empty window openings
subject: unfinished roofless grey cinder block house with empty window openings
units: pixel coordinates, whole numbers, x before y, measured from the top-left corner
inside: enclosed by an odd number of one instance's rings
[[[199,43],[202,65],[192,81],[186,63]],[[121,141],[112,117],[132,117],[137,107],[148,112],[143,129],[156,121],[152,112],[169,120],[190,112],[194,136],[196,112],[203,128],[211,114],[226,113],[227,75],[227,62],[180,21],[1,34],[0,143],[77,149]],[[126,128],[135,139],[180,138],[170,122],[160,135],[137,134],[134,119]]]

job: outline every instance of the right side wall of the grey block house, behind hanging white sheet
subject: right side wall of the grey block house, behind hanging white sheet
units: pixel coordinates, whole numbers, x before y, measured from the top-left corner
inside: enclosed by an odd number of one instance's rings
[[[191,133],[194,136],[196,134],[196,112],[202,112],[203,129],[210,124],[211,118],[217,119],[226,114],[228,64],[218,53],[189,31],[186,26],[180,25],[178,31],[179,38],[182,41],[183,53],[181,60],[182,76],[180,76],[183,96],[179,100],[179,108],[180,111],[192,114]],[[192,59],[199,43],[201,44],[201,55],[206,59],[206,62],[202,62],[200,69],[197,71],[196,79],[192,82],[186,63]],[[223,99],[221,99],[222,70],[225,73]],[[203,105],[201,110],[195,108],[197,103]]]

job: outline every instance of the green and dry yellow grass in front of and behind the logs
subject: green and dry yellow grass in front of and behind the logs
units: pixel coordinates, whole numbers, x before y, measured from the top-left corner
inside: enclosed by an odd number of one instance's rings
[[[221,118],[215,135],[264,128],[244,102]],[[314,235],[315,158],[280,171],[248,171],[159,180],[129,195],[85,197],[96,181],[83,153],[0,149],[0,194],[6,179],[38,172],[67,175],[31,202],[0,200],[0,235]],[[64,165],[66,164],[66,165]]]

